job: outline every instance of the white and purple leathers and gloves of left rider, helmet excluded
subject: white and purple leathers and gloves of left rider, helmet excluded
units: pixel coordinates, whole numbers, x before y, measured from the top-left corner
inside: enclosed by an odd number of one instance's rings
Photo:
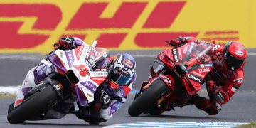
[[[78,46],[84,45],[85,42],[80,40],[80,38],[66,37],[61,38],[58,43],[55,43],[56,49],[68,50],[77,48]],[[50,55],[50,54],[49,54]],[[49,56],[48,55],[48,56]],[[107,69],[112,61],[112,57],[107,56],[103,58],[100,62],[96,63],[95,69]],[[33,87],[38,85],[39,82],[44,80],[51,73],[58,73],[58,68],[55,67],[48,57],[43,59],[41,63],[28,71],[25,80],[18,90],[16,100],[14,102],[14,107],[21,104],[24,96]],[[130,90],[132,90],[132,83],[136,79],[136,74],[127,85],[116,85],[111,82],[109,78],[102,82],[95,92],[95,100],[90,102],[87,106],[82,107],[79,105],[77,96],[71,93],[62,102],[53,106],[46,114],[37,115],[32,118],[32,120],[38,119],[60,119],[66,114],[73,113],[79,119],[84,119],[90,124],[98,124],[100,122],[105,122],[112,117],[112,115],[119,110],[119,108],[126,102],[127,95]]]

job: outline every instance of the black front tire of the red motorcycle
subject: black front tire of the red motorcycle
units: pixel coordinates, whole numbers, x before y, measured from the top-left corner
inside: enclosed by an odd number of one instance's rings
[[[132,102],[132,105],[130,105],[128,109],[129,115],[132,117],[139,116],[139,114],[145,112],[151,105],[154,105],[156,100],[159,99],[159,96],[166,91],[169,91],[169,87],[166,86],[163,80],[160,78],[157,79],[152,83],[149,89],[142,92],[142,95],[139,95],[139,97]]]

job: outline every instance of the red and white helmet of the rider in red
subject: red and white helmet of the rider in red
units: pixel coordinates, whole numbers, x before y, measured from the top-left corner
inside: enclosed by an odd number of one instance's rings
[[[224,47],[224,60],[228,70],[236,70],[245,63],[247,50],[238,41],[229,41]]]

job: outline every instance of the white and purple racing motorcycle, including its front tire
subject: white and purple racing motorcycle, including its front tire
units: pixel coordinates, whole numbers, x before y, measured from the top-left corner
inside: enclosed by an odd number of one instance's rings
[[[106,69],[96,69],[96,63],[107,57],[108,50],[83,44],[73,50],[55,50],[47,59],[57,72],[50,73],[24,98],[9,105],[8,121],[23,123],[35,115],[43,115],[68,95],[75,95],[76,102],[85,107],[95,100],[97,88],[107,78]],[[78,105],[77,105],[78,106]]]

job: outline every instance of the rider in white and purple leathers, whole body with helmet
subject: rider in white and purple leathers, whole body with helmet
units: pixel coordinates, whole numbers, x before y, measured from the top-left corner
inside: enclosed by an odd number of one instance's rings
[[[56,50],[70,50],[78,48],[84,43],[80,38],[64,37],[54,46]],[[97,88],[93,102],[81,107],[78,103],[75,104],[76,97],[71,95],[63,102],[53,106],[44,117],[39,116],[33,119],[60,119],[69,113],[75,114],[79,119],[83,119],[90,124],[99,124],[110,119],[126,102],[127,95],[132,90],[132,83],[137,77],[135,73],[136,62],[132,55],[117,53],[112,57],[107,55],[107,57],[97,62],[93,68],[95,70],[106,69],[108,71],[108,77]],[[14,107],[21,104],[24,96],[31,88],[38,85],[39,82],[53,72],[58,72],[58,70],[49,62],[48,58],[43,59],[38,66],[29,70],[21,89],[18,91]]]

